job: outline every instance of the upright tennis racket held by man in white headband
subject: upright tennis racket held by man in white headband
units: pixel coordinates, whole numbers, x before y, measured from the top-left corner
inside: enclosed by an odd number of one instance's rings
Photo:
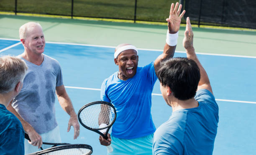
[[[84,105],[78,112],[78,120],[83,127],[97,132],[108,140],[108,131],[116,119],[115,107],[105,101],[97,101]],[[105,134],[104,134],[105,132]],[[113,148],[107,146],[108,152]]]

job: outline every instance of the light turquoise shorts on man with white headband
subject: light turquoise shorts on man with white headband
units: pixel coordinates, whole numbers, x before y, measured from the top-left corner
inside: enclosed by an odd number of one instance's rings
[[[152,155],[153,136],[120,139],[111,135],[113,152],[108,152],[108,155]]]

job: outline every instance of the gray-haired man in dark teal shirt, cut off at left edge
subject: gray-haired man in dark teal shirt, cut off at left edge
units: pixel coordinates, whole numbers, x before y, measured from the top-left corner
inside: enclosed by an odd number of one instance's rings
[[[19,94],[27,69],[19,58],[0,57],[0,155],[24,155],[23,127],[6,107]]]

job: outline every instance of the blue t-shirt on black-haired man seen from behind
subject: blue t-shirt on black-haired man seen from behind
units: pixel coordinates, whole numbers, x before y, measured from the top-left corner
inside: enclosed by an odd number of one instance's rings
[[[219,122],[218,105],[206,89],[197,91],[199,106],[172,113],[154,133],[153,155],[212,155]]]

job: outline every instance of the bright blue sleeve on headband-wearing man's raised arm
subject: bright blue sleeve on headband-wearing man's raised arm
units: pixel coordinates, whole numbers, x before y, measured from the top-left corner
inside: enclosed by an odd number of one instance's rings
[[[154,68],[154,61],[143,67],[144,75],[147,76],[148,82],[151,84],[151,91],[153,91],[157,76]]]

